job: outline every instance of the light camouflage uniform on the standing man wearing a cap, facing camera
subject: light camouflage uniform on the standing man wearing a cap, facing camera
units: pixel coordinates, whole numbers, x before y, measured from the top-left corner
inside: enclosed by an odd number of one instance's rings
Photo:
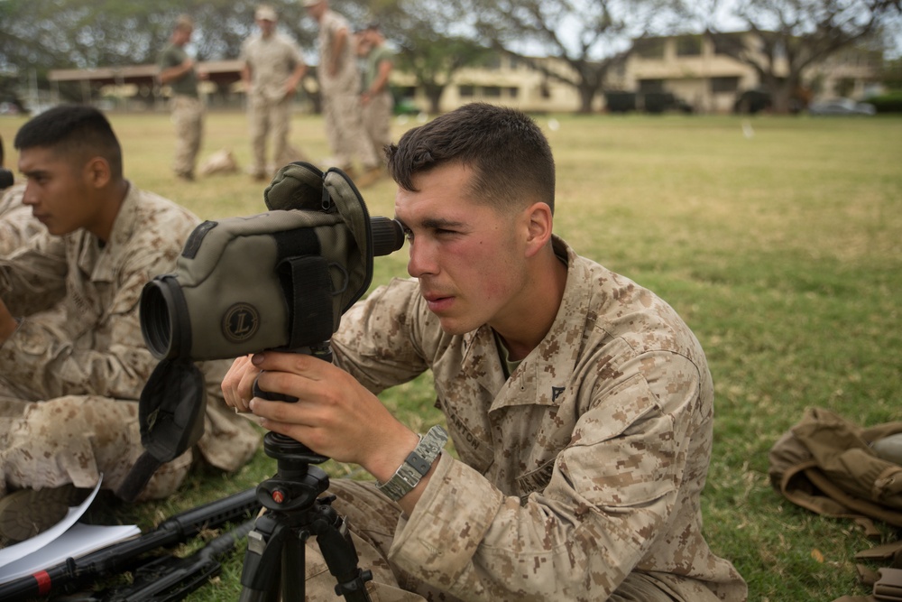
[[[272,160],[281,167],[299,157],[288,143],[292,97],[285,86],[294,69],[304,61],[298,44],[279,32],[268,38],[257,33],[242,46],[241,60],[251,68],[247,91],[247,116],[251,124],[254,175],[270,174],[266,164],[266,135],[272,133]]]

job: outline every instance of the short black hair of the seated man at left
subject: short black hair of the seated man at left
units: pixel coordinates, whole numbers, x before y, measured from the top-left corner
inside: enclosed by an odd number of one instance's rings
[[[122,178],[122,146],[106,116],[87,105],[60,105],[33,117],[15,134],[22,151],[36,146],[52,148],[82,162],[101,156],[114,178]]]

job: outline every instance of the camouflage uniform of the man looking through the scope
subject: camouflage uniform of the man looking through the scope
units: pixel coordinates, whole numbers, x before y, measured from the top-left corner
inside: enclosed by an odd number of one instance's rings
[[[333,482],[360,566],[388,584],[374,597],[746,599],[702,533],[713,385],[698,341],[652,292],[554,244],[564,298],[510,378],[492,330],[445,334],[415,281],[343,320],[337,361],[373,392],[432,370],[460,458],[441,456],[409,517],[372,483]],[[328,599],[308,551],[324,592],[308,599]]]

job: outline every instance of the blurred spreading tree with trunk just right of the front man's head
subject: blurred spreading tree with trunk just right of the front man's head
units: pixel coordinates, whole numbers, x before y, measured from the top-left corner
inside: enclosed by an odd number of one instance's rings
[[[580,113],[591,113],[608,73],[671,14],[664,0],[474,0],[478,31],[492,48],[508,52],[549,79],[579,92]],[[557,58],[555,69],[536,53]]]

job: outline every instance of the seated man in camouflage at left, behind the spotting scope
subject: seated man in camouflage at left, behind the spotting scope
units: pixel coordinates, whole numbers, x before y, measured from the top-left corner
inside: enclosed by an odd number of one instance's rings
[[[43,231],[0,256],[0,535],[23,540],[66,513],[78,488],[115,490],[141,455],[138,403],[156,361],[145,347],[145,282],[170,272],[199,223],[123,175],[101,112],[61,106],[15,136],[22,203]],[[231,471],[259,436],[227,412],[223,362],[201,366],[206,432],[199,456]],[[140,499],[176,490],[192,450],[162,466]]]

